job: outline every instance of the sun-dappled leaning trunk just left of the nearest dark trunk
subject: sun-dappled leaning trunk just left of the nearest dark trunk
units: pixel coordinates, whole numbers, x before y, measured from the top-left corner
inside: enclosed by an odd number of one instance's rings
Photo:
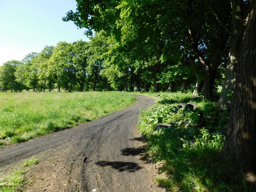
[[[232,31],[230,31],[229,39],[229,55],[227,69],[225,73],[224,83],[219,98],[217,111],[230,108],[231,101],[227,97],[228,93],[232,93],[235,89],[236,66],[239,58],[239,50],[245,30],[243,19],[243,0],[231,0],[232,7]]]

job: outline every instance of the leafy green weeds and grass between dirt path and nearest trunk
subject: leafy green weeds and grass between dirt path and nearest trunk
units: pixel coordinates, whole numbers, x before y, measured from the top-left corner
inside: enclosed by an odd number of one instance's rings
[[[232,161],[223,158],[228,116],[215,113],[217,102],[191,98],[191,93],[162,95],[151,110],[141,110],[139,129],[148,141],[152,161],[162,162],[156,178],[167,191],[254,191]],[[184,105],[194,102],[197,108]],[[177,105],[183,103],[178,109]],[[157,123],[165,127],[155,129]]]

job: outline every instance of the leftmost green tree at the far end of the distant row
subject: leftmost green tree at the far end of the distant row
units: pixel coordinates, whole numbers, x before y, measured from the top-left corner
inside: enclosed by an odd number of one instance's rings
[[[11,89],[11,92],[13,92],[13,89],[17,92],[19,86],[21,86],[15,77],[15,72],[17,66],[21,65],[21,61],[17,60],[11,60],[7,61],[3,64],[1,67],[1,73],[0,73],[0,81],[1,81],[1,87],[5,90]]]

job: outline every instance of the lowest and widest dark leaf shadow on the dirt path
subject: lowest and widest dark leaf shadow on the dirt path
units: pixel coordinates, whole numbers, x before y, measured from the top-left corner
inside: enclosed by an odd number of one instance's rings
[[[136,172],[139,169],[142,169],[142,167],[140,167],[138,163],[123,162],[123,161],[98,161],[96,162],[96,165],[101,167],[111,166],[112,168],[117,169],[119,172],[123,172],[123,171]]]

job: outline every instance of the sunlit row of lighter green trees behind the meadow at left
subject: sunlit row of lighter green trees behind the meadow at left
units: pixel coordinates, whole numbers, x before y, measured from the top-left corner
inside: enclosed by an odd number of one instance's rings
[[[0,68],[2,91],[21,91],[32,88],[51,91],[58,87],[72,90],[107,89],[106,78],[100,75],[103,69],[102,52],[107,42],[102,36],[91,41],[74,43],[59,42],[45,46],[40,53],[29,53],[22,61],[11,60]],[[98,86],[97,86],[98,85]]]

